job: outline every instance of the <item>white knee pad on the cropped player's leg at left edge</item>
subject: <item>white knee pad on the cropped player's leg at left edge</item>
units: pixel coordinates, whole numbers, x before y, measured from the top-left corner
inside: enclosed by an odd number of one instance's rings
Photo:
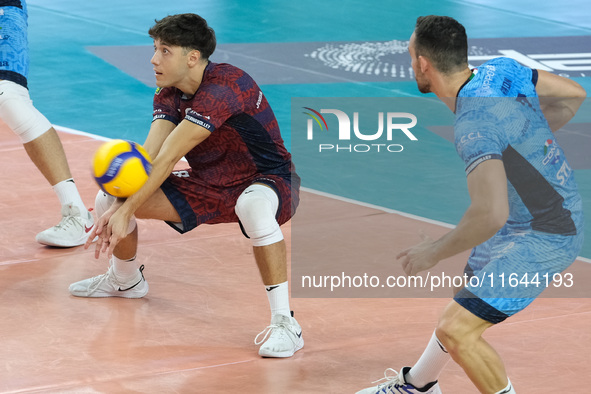
[[[33,106],[26,88],[12,81],[0,81],[0,93],[0,117],[23,144],[51,129],[49,120]]]

